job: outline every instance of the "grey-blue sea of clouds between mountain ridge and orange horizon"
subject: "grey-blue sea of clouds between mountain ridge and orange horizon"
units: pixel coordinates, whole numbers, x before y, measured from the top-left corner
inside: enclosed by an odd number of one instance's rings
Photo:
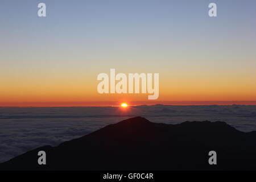
[[[256,131],[256,105],[121,107],[0,107],[0,163],[34,148],[96,131],[123,119],[152,122],[225,121],[240,131]]]

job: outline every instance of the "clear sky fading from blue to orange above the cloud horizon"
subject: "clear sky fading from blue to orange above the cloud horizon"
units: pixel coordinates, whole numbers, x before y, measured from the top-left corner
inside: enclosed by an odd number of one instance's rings
[[[254,0],[1,0],[0,27],[0,106],[256,104]],[[158,100],[99,94],[110,68],[159,73]]]

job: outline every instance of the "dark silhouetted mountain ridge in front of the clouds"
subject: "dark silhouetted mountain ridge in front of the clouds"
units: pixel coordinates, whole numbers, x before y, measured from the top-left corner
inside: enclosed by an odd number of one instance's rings
[[[38,151],[47,165],[38,165]],[[217,152],[210,166],[208,152]],[[44,146],[0,164],[0,169],[256,169],[256,132],[243,133],[225,122],[152,123],[136,117],[84,137]]]

